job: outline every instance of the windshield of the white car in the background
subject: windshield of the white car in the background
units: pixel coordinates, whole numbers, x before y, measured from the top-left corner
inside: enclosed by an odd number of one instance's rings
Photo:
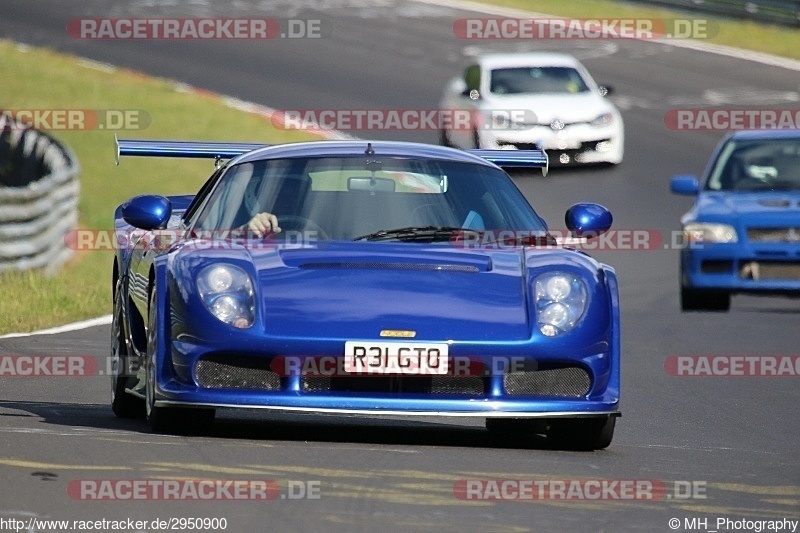
[[[492,70],[489,90],[494,94],[574,94],[589,87],[572,67],[515,67]]]

